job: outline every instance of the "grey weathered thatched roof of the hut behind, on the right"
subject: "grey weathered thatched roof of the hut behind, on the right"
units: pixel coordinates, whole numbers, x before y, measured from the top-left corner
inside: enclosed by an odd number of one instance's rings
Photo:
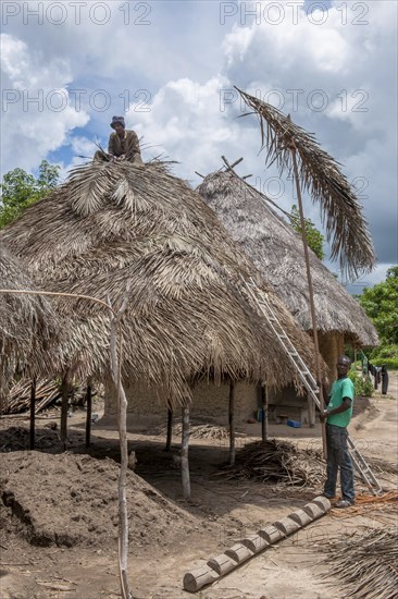
[[[297,322],[312,329],[302,242],[256,191],[232,171],[209,174],[197,190]],[[362,346],[377,345],[361,306],[310,250],[318,329],[339,331]]]

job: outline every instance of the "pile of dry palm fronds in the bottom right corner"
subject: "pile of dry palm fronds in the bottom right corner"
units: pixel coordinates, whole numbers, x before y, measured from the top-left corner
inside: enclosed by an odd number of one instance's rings
[[[397,599],[397,527],[355,535],[328,545],[327,552],[333,574],[346,585],[345,597]]]

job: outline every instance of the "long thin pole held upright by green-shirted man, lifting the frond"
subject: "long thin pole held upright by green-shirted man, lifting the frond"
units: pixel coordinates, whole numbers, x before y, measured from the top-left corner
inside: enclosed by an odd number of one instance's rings
[[[320,368],[320,360],[319,360],[319,352],[320,352],[320,344],[318,341],[318,328],[316,328],[316,315],[315,315],[315,305],[313,301],[313,285],[312,285],[312,276],[311,276],[311,267],[310,267],[310,255],[308,252],[308,242],[307,242],[307,234],[306,234],[306,221],[304,221],[304,212],[302,209],[302,197],[301,197],[301,187],[300,187],[300,179],[297,168],[297,157],[296,157],[296,147],[291,147],[291,160],[293,160],[293,169],[295,173],[295,180],[296,180],[296,190],[297,190],[297,201],[299,207],[299,215],[300,215],[300,224],[301,224],[301,239],[302,239],[302,245],[304,249],[304,260],[306,260],[306,270],[307,270],[307,281],[308,281],[308,291],[309,291],[309,300],[310,300],[310,311],[311,311],[311,319],[312,319],[312,337],[313,337],[313,344],[315,347],[315,355],[314,355],[314,364],[315,364],[315,375],[316,375],[316,383],[319,389],[319,398],[320,398],[320,404],[321,409],[324,409],[324,401],[323,401],[323,390],[322,390],[322,380],[321,380],[321,368]],[[325,423],[322,423],[322,443],[323,443],[323,453],[326,457],[327,451],[326,451],[326,427]]]

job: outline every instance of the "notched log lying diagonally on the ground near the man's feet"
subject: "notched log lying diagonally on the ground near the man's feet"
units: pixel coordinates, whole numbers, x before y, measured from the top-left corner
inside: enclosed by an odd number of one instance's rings
[[[226,549],[221,555],[210,558],[206,566],[187,572],[184,576],[184,589],[196,592],[202,587],[214,583],[214,580],[228,574],[253,555],[266,550],[271,545],[323,516],[329,509],[331,502],[326,498],[315,498],[312,502],[307,503],[302,510],[297,510],[273,525],[261,528],[257,535],[250,535],[242,539]]]

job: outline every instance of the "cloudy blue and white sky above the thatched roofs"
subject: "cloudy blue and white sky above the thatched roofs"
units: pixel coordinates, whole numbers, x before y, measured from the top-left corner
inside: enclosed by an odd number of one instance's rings
[[[35,174],[47,159],[66,178],[96,143],[107,147],[112,117],[124,115],[145,160],[177,161],[174,173],[196,186],[196,172],[220,169],[221,156],[244,157],[237,172],[289,210],[293,182],[265,168],[237,86],[314,133],[356,187],[377,256],[372,273],[347,285],[360,293],[398,264],[397,7],[3,0],[1,173]],[[321,228],[310,198],[304,212]]]

